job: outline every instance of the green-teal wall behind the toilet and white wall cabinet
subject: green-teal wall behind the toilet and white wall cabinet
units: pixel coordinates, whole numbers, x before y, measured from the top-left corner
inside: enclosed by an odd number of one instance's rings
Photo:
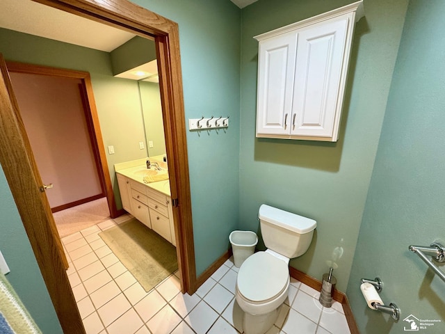
[[[305,255],[291,266],[322,279],[334,250],[337,288],[345,292],[407,1],[364,1],[356,24],[337,143],[255,138],[258,43],[254,35],[353,1],[260,0],[242,11],[240,227],[258,231],[262,203],[314,218],[318,226]]]

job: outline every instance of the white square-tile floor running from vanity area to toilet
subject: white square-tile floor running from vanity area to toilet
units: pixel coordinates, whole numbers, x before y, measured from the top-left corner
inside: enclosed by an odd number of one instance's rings
[[[62,239],[86,333],[242,333],[242,310],[234,298],[238,269],[232,260],[193,296],[180,293],[175,275],[147,293],[98,235],[127,218],[104,221]],[[350,333],[341,304],[323,308],[318,296],[315,289],[292,279],[289,299],[268,334]]]

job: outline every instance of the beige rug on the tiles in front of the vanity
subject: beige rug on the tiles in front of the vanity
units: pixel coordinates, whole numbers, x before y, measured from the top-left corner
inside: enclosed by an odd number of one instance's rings
[[[147,292],[178,269],[175,246],[136,218],[99,236]]]

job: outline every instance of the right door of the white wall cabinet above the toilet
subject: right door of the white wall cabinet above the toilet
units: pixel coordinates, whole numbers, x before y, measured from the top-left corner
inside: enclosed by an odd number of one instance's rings
[[[339,86],[349,19],[343,15],[298,32],[291,135],[333,136],[343,102]]]

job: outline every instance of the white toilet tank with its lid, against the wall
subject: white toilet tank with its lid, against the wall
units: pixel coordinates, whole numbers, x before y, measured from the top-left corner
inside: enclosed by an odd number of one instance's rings
[[[314,219],[265,204],[259,207],[258,218],[266,247],[289,259],[306,253],[317,226]]]

